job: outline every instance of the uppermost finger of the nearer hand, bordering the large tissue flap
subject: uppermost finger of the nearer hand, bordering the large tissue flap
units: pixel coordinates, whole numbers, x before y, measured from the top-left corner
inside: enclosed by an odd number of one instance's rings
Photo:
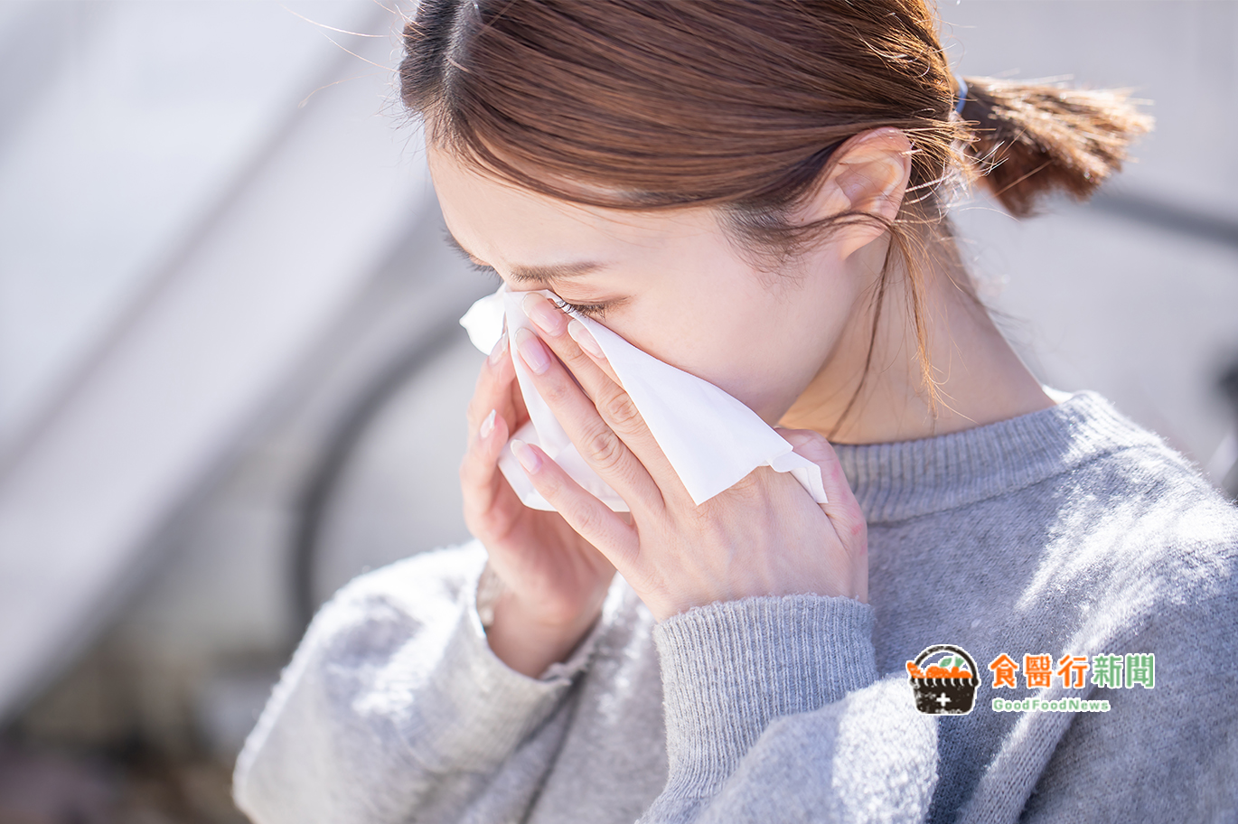
[[[545,297],[530,293],[525,298],[524,307],[525,313],[540,329],[542,340],[576,376],[603,421],[646,469],[661,494],[691,500],[683,481],[649,431],[631,396],[613,377],[614,372],[605,356],[591,355],[569,334],[565,334],[568,329],[567,317]],[[578,320],[574,323],[583,329],[584,324]],[[582,340],[592,341],[587,329],[583,329]]]

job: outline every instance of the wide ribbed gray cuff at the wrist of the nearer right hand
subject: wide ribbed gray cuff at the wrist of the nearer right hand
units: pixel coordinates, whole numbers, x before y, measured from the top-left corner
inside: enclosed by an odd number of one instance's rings
[[[654,627],[670,783],[712,794],[769,723],[877,680],[873,610],[849,598],[717,601]]]

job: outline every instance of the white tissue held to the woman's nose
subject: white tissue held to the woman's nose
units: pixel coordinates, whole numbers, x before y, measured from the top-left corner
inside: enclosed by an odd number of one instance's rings
[[[547,290],[539,290],[539,293],[557,298]],[[503,283],[494,294],[474,303],[461,318],[461,325],[468,330],[473,345],[489,354],[503,337],[506,317],[508,345],[530,418],[511,437],[537,444],[586,491],[615,512],[628,512],[623,497],[581,458],[572,439],[537,393],[532,374],[515,348],[516,330],[521,327],[532,329],[532,322],[521,308],[525,294],[527,292],[513,292]],[[815,501],[827,502],[821,468],[792,452],[782,436],[740,401],[696,375],[645,354],[597,320],[576,312],[568,314],[593,333],[697,506],[765,465],[780,473],[791,473]],[[525,506],[555,511],[521,469],[511,453],[510,440],[499,455],[499,469]]]

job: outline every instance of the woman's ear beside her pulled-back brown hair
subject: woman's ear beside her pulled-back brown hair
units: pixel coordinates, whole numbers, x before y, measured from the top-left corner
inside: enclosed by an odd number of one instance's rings
[[[901,129],[874,129],[849,139],[822,172],[801,219],[821,220],[843,212],[864,212],[894,220],[911,176],[911,141]],[[872,220],[838,230],[832,242],[842,257],[879,238],[885,228]]]

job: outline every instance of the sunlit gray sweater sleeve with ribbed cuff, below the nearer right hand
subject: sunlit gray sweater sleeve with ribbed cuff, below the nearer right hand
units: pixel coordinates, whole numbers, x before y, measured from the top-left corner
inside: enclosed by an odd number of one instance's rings
[[[670,775],[638,824],[922,822],[936,716],[879,679],[873,611],[820,595],[696,607],[654,630]]]

